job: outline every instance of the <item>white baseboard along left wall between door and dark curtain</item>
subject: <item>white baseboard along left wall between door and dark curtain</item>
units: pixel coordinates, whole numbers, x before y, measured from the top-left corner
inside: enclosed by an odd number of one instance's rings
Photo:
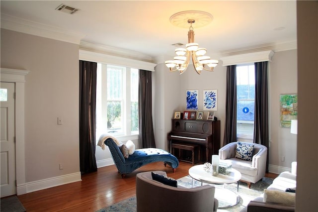
[[[44,180],[33,181],[23,185],[18,185],[17,195],[22,195],[78,181],[81,181],[80,172],[48,178]]]

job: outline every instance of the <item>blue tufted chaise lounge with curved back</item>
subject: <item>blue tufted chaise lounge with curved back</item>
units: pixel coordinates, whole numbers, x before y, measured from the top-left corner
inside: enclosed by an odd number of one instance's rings
[[[121,174],[122,178],[125,177],[125,174],[129,174],[149,163],[162,161],[164,162],[164,166],[166,166],[166,164],[171,166],[173,172],[175,172],[175,169],[179,166],[178,159],[162,149],[136,149],[134,154],[129,155],[128,158],[124,158],[118,145],[112,138],[108,137],[103,142],[108,146],[114,163],[116,164],[118,172]]]

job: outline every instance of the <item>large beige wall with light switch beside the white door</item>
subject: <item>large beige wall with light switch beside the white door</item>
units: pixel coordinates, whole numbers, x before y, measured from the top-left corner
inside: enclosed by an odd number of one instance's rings
[[[25,78],[26,183],[73,173],[80,180],[79,46],[1,29],[1,68],[30,71]]]

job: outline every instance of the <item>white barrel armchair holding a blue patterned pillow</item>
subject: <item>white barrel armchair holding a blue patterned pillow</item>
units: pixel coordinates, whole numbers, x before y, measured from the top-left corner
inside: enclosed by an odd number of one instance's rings
[[[232,168],[238,170],[241,173],[241,181],[247,183],[248,188],[250,188],[251,183],[256,183],[265,176],[267,147],[255,143],[252,161],[246,161],[235,158],[237,144],[238,142],[232,142],[225,145],[219,150],[219,156],[221,160],[231,163]]]

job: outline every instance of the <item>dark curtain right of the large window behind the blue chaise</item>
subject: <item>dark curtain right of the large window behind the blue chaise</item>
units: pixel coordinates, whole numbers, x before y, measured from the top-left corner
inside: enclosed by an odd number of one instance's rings
[[[139,70],[140,148],[156,148],[152,115],[152,72]]]

